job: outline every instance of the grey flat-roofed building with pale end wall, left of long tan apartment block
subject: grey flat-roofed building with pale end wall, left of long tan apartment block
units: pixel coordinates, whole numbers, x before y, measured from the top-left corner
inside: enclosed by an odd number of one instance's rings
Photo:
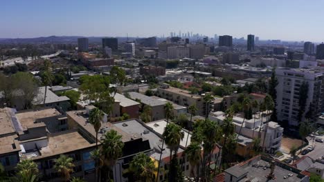
[[[138,92],[129,92],[128,94],[131,99],[141,101],[143,105],[148,105],[151,108],[151,121],[164,119],[164,101],[148,97],[145,94],[140,94]]]

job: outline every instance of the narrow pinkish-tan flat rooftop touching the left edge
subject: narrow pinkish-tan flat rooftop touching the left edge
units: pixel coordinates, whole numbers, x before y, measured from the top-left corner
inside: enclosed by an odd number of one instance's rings
[[[14,125],[11,121],[10,108],[0,109],[0,135],[15,132]],[[2,145],[1,145],[2,146]]]

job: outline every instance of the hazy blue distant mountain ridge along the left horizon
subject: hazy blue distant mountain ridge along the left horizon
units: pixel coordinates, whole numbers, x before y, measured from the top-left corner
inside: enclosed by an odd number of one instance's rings
[[[78,38],[82,36],[50,36],[50,37],[35,37],[22,39],[1,39],[0,43],[78,43]],[[101,43],[103,37],[87,37],[89,43]],[[127,37],[117,37],[118,41],[127,41]],[[129,41],[136,39],[128,37]]]

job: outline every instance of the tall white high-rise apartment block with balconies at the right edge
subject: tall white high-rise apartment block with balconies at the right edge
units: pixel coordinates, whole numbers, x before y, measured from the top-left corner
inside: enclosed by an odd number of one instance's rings
[[[277,85],[277,118],[278,121],[284,121],[289,125],[298,126],[299,112],[299,90],[303,81],[307,82],[308,93],[306,108],[303,114],[309,110],[309,104],[312,103],[312,116],[319,117],[324,112],[324,72],[316,69],[293,69],[293,68],[277,68],[276,77]]]

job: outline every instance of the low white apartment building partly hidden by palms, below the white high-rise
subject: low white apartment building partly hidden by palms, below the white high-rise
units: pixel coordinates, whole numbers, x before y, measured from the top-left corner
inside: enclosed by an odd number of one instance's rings
[[[264,121],[266,121],[265,117],[258,118],[258,114],[255,115],[256,119],[245,119],[244,124],[241,130],[242,136],[253,139],[258,137],[259,131],[261,134],[261,145],[264,139],[264,132],[266,129],[266,125]],[[209,117],[211,121],[217,121],[217,123],[222,123],[225,119],[225,113],[221,111],[210,112]],[[235,124],[235,132],[238,134],[240,132],[240,128],[243,122],[242,117],[233,117],[233,123]],[[260,130],[261,128],[261,130]],[[269,121],[268,130],[266,134],[266,138],[264,140],[264,149],[271,152],[276,152],[280,149],[281,139],[282,139],[283,128],[278,125],[278,123]]]

